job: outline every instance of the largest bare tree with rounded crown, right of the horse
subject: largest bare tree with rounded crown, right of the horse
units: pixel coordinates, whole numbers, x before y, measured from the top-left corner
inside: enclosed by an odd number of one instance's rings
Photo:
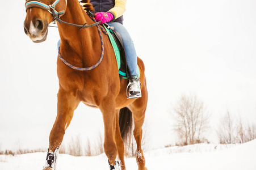
[[[183,95],[174,107],[173,117],[179,145],[192,145],[206,140],[204,132],[209,128],[209,113],[198,97]]]

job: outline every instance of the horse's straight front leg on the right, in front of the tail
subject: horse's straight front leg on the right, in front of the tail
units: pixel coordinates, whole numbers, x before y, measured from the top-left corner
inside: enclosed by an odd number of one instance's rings
[[[104,151],[110,164],[110,169],[115,166],[117,148],[115,144],[115,100],[106,99],[99,105],[104,122]]]

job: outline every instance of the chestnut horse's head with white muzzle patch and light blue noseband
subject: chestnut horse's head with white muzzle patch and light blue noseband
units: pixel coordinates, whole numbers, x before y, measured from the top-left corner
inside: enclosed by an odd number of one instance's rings
[[[48,25],[54,21],[53,16],[60,17],[66,10],[66,0],[26,0],[26,19],[24,31],[33,42],[47,39]]]

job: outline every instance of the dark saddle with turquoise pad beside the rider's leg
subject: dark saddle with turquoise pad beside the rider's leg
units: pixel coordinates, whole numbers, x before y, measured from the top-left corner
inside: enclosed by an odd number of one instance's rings
[[[123,45],[123,39],[119,32],[115,31],[114,27],[110,27],[108,24],[104,23],[103,27],[108,33],[108,38],[110,39],[110,42],[112,44],[112,47],[115,52],[117,66],[119,69],[119,79],[121,82],[121,79],[129,79],[131,78],[131,72],[129,71],[129,68],[127,66],[127,60]],[[140,76],[139,68],[138,75]]]

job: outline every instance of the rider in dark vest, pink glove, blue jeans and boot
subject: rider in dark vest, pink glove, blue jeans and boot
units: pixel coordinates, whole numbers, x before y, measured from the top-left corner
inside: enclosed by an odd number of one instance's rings
[[[140,80],[137,75],[137,54],[135,46],[127,29],[123,26],[123,14],[126,1],[127,0],[90,0],[90,3],[94,7],[94,12],[96,12],[95,20],[97,22],[102,20],[101,23],[107,23],[111,27],[114,27],[123,39],[127,65],[133,81],[128,84],[129,99],[136,99],[141,97]]]

